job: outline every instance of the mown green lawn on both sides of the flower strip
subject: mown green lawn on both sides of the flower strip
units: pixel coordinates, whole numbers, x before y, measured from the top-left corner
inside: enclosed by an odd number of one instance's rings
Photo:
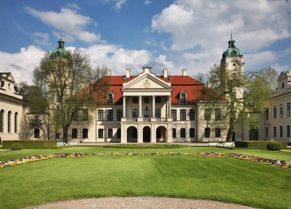
[[[0,161],[48,153],[236,152],[291,161],[291,153],[191,147],[162,150],[72,147],[0,153]],[[0,208],[88,197],[167,196],[288,209],[291,171],[230,157],[86,156],[0,169]]]

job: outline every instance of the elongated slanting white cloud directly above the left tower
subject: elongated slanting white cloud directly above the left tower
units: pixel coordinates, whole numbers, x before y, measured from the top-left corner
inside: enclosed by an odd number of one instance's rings
[[[102,42],[105,43],[106,40],[101,39],[101,35],[90,33],[85,31],[87,25],[91,24],[92,19],[90,17],[82,16],[78,14],[76,10],[71,10],[67,8],[62,8],[61,12],[54,11],[37,11],[30,7],[25,7],[25,11],[28,14],[31,14],[33,17],[39,18],[43,23],[60,29],[62,26],[62,30],[68,34],[76,37],[85,42]]]

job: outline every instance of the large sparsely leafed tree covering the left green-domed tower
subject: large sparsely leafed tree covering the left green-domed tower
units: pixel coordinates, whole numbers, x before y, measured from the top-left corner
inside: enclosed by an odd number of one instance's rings
[[[63,56],[46,52],[33,71],[33,82],[49,98],[51,124],[55,130],[63,129],[67,142],[73,117],[82,114],[90,123],[90,116],[108,91],[110,77],[107,68],[93,69],[90,56],[80,49]]]

